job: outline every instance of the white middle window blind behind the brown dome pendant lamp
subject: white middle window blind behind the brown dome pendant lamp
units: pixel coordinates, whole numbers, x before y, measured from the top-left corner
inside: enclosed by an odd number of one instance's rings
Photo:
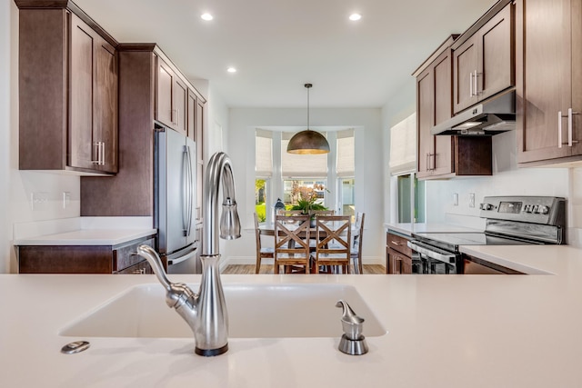
[[[326,177],[327,154],[289,154],[287,144],[294,133],[284,132],[281,140],[281,174],[283,177]],[[325,133],[323,134],[326,135]]]

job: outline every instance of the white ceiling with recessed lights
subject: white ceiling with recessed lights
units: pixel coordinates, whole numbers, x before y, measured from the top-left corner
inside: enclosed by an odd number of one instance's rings
[[[119,42],[157,43],[229,107],[380,107],[495,0],[75,0]],[[205,22],[199,15],[215,16]],[[358,22],[348,20],[353,12]],[[228,66],[236,74],[226,73]]]

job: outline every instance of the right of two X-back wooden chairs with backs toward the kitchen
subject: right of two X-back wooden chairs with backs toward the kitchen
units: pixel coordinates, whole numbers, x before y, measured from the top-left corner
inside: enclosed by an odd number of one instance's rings
[[[316,274],[320,266],[339,266],[343,274],[350,273],[351,226],[349,215],[316,216]]]

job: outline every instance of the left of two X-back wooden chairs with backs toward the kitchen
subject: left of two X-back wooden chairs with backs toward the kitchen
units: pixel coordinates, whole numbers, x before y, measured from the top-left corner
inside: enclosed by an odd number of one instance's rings
[[[275,274],[279,274],[280,265],[286,268],[302,266],[309,274],[310,261],[309,215],[276,215]]]

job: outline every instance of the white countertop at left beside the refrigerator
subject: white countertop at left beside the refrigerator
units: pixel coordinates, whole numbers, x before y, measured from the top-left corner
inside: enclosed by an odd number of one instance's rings
[[[79,229],[14,241],[15,245],[117,245],[157,234],[156,229]]]

